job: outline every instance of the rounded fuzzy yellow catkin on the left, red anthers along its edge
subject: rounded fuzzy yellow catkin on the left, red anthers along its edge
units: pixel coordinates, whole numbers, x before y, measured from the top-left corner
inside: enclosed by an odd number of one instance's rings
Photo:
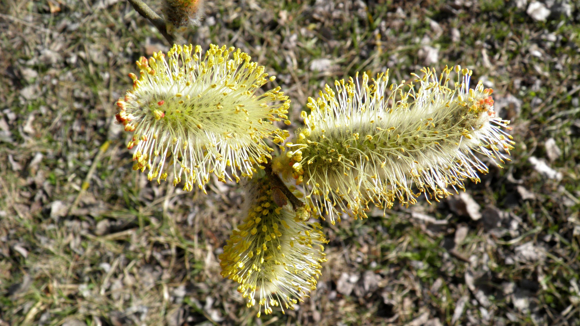
[[[258,93],[274,76],[240,49],[174,45],[166,56],[141,57],[137,67],[116,117],[133,132],[133,170],[149,170],[149,180],[165,180],[171,169],[173,185],[185,175],[186,191],[202,189],[211,173],[239,181],[238,171],[251,176],[271,158],[266,139],[289,135],[273,122],[288,119],[290,100],[280,87]]]

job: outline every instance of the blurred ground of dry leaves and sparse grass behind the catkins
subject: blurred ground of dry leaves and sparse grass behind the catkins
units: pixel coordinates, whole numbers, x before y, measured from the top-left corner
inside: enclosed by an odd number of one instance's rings
[[[216,259],[242,218],[238,185],[147,182],[113,122],[135,60],[168,49],[158,31],[122,0],[2,1],[0,325],[578,325],[579,9],[208,0],[186,42],[266,65],[295,126],[336,78],[461,64],[517,141],[462,196],[324,224],[318,289],[260,320]]]

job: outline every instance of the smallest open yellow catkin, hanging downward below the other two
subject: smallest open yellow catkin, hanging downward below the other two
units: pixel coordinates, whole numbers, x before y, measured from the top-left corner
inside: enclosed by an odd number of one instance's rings
[[[237,281],[247,306],[258,303],[258,317],[273,307],[293,305],[316,289],[328,241],[316,222],[304,222],[286,204],[278,206],[264,175],[246,186],[245,219],[233,230],[219,256],[222,276]]]

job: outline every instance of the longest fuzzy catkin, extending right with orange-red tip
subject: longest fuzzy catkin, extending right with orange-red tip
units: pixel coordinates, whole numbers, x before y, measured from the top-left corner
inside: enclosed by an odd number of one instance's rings
[[[328,214],[334,224],[343,213],[367,217],[369,204],[414,204],[420,193],[438,200],[465,189],[466,179],[480,181],[477,171],[487,173],[476,153],[496,164],[509,160],[514,142],[502,130],[511,129],[509,121],[495,116],[491,89],[481,82],[469,89],[472,71],[445,67],[437,76],[424,68],[413,75],[409,91],[405,80],[388,87],[388,72],[372,83],[357,74],[336,81],[336,92],[327,85],[309,98],[306,127],[273,168],[303,183],[314,213]]]

